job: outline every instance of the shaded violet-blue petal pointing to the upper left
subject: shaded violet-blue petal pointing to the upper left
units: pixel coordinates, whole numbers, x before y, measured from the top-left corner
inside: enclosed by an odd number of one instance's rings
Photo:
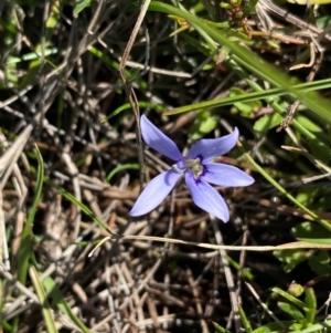
[[[141,116],[141,134],[143,141],[157,152],[175,162],[183,159],[183,155],[177,144],[156,127],[145,115]]]

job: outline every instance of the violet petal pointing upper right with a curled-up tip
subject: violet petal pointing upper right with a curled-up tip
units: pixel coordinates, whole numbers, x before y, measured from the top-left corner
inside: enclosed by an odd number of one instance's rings
[[[231,134],[220,138],[201,139],[190,149],[188,158],[195,159],[197,156],[202,156],[205,162],[222,156],[236,145],[238,136],[238,128],[235,127]]]

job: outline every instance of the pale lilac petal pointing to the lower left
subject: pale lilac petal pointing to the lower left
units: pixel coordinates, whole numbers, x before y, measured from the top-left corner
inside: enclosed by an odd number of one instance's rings
[[[153,210],[164,200],[181,176],[168,170],[154,177],[145,187],[129,215],[141,216]]]

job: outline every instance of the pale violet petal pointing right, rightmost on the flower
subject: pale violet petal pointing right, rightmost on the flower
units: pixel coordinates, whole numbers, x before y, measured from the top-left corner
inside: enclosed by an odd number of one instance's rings
[[[203,180],[229,187],[248,186],[255,180],[241,169],[222,163],[205,164],[207,171],[201,176]]]

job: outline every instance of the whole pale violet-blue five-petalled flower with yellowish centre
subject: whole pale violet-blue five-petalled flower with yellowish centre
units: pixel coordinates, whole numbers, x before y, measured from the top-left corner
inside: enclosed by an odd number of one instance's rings
[[[143,141],[157,152],[175,163],[171,169],[154,177],[142,190],[130,216],[141,216],[160,205],[184,176],[194,204],[201,209],[227,222],[228,208],[209,183],[224,187],[248,186],[254,179],[238,168],[215,163],[214,158],[226,154],[238,141],[238,129],[220,138],[201,139],[183,156],[175,143],[159,131],[145,115],[141,116]]]

